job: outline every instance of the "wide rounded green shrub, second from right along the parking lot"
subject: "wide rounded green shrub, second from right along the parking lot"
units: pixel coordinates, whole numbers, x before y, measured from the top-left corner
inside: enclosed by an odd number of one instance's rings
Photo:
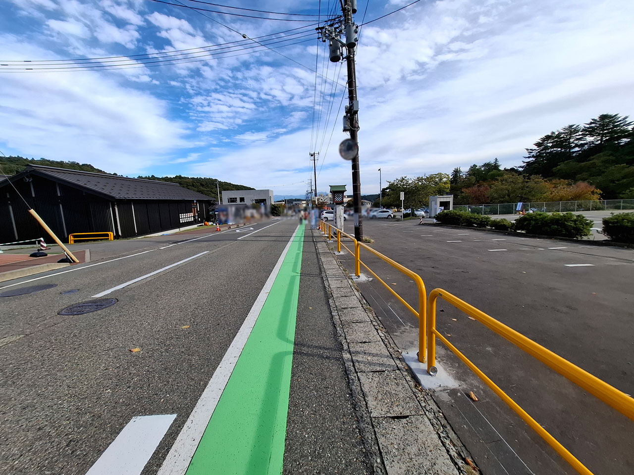
[[[590,227],[591,220],[573,213],[529,213],[515,220],[515,231],[561,238],[583,238]]]

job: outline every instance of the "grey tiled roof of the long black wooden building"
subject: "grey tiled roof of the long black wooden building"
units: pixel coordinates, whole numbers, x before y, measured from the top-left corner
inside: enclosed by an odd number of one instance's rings
[[[28,165],[26,172],[115,200],[214,200],[177,183]]]

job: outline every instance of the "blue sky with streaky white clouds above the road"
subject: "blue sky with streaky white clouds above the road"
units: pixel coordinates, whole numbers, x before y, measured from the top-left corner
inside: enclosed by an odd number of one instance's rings
[[[165,1],[0,0],[0,150],[276,196],[306,192],[318,152],[318,191],[351,190],[346,64],[314,30],[339,2],[182,0],[227,15]],[[358,0],[354,21],[410,2]],[[551,130],[634,116],[631,18],[631,0],[422,0],[361,26],[361,193],[378,193],[378,168],[385,187],[493,158],[514,167]],[[108,59],[63,61],[78,58]]]

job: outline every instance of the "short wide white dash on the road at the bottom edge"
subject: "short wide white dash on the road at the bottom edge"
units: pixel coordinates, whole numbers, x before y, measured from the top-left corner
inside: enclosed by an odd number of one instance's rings
[[[86,475],[139,475],[176,414],[133,417]]]

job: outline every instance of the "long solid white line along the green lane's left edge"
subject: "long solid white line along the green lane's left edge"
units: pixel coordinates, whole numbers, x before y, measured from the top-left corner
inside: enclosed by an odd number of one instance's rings
[[[288,254],[290,245],[298,230],[299,226],[297,226],[295,232],[288,240],[278,262],[271,271],[271,275],[266,279],[264,287],[262,287],[260,294],[257,296],[256,302],[253,304],[253,307],[251,307],[251,310],[249,310],[249,314],[245,318],[240,330],[238,330],[238,334],[236,334],[233,341],[231,341],[229,349],[224,353],[222,361],[216,368],[216,371],[214,371],[214,375],[209,380],[209,383],[207,383],[207,387],[200,396],[200,399],[198,399],[196,406],[191,411],[189,419],[185,422],[181,433],[178,434],[174,445],[172,445],[167,457],[165,457],[165,461],[160,467],[159,472],[157,472],[157,475],[184,475],[187,471],[191,458],[207,428],[207,424],[209,424],[212,414],[214,414],[214,410],[216,410],[216,405],[220,400],[220,396],[223,394],[236,362],[238,362],[240,353],[242,353],[244,345],[247,343],[247,339],[249,339],[249,335],[256,325],[257,317],[262,307],[264,307],[264,302],[273,287],[273,282],[275,282],[275,278],[280,272],[281,264],[284,262],[284,258]]]

